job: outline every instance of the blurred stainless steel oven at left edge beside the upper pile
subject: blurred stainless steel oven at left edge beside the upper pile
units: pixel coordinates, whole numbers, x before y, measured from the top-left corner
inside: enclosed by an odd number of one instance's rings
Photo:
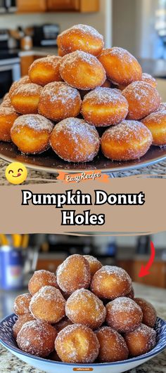
[[[9,91],[13,81],[20,79],[20,58],[0,60],[0,99]]]

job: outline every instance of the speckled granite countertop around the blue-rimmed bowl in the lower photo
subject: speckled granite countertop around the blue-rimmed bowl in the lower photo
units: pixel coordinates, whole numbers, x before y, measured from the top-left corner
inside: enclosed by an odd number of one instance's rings
[[[148,287],[141,284],[134,284],[134,290],[136,296],[141,296],[151,303],[153,303],[153,306],[155,306],[158,316],[162,319],[166,319],[166,290],[164,289],[158,289],[155,287]],[[6,300],[6,304],[8,303],[9,299],[14,299],[15,296],[17,296],[18,293],[5,293],[0,292],[0,305],[2,305],[2,301],[4,302]],[[11,303],[11,301],[9,302]],[[12,306],[11,311],[8,311],[9,313],[12,312]],[[3,316],[2,308],[0,307],[0,318]],[[1,366],[1,372],[4,373],[42,373],[38,369],[34,369],[33,367],[30,367],[30,365],[25,364],[24,362],[18,360],[18,358],[15,358],[11,353],[6,351],[4,347],[0,346],[0,366]],[[128,373],[165,373],[166,372],[166,350],[160,355],[158,355],[156,358],[149,360],[143,365],[140,365],[139,367],[132,369]]]

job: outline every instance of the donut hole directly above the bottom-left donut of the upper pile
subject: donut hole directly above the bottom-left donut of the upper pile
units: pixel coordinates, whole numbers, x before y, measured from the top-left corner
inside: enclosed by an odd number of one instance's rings
[[[37,114],[41,91],[37,84],[21,84],[11,93],[11,105],[20,114]]]

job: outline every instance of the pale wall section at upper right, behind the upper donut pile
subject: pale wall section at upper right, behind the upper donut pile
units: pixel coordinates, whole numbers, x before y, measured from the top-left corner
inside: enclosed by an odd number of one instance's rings
[[[113,44],[138,57],[155,57],[158,0],[113,0]]]

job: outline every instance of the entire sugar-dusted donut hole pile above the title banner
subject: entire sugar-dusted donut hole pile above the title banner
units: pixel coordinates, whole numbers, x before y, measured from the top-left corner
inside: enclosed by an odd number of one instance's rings
[[[166,103],[123,48],[88,25],[58,35],[58,56],[35,60],[0,106],[0,140],[26,155],[50,147],[67,162],[139,159],[166,145]]]

